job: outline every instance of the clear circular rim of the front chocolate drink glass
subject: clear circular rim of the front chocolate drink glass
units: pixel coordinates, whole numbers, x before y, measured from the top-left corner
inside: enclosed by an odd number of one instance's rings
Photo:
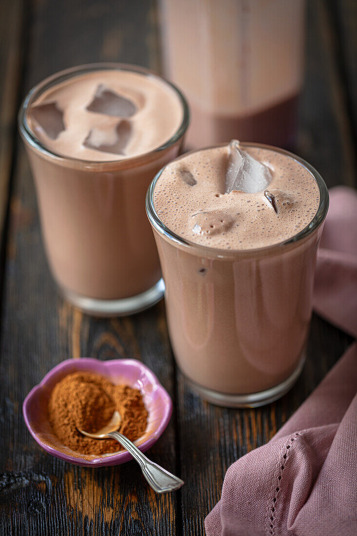
[[[211,147],[204,147],[202,149],[198,149],[195,151],[190,151],[188,153],[183,154],[181,157],[178,157],[178,159],[181,159],[188,154],[197,153],[199,151],[205,151],[217,147],[226,146],[226,143],[217,144]],[[240,145],[244,147],[258,147],[274,152],[278,152],[280,154],[284,154],[287,157],[291,158],[295,162],[300,163],[304,168],[306,168],[311,175],[315,178],[315,181],[317,183],[318,189],[319,189],[319,205],[316,211],[316,214],[314,215],[314,218],[309,222],[309,224],[304,227],[299,233],[296,233],[294,236],[289,237],[286,240],[283,240],[281,242],[278,242],[276,244],[266,245],[260,248],[251,248],[251,249],[220,249],[220,248],[213,248],[210,246],[197,244],[196,242],[192,242],[190,240],[184,239],[182,236],[177,235],[174,233],[171,229],[169,229],[159,218],[155,206],[154,206],[154,189],[155,185],[158,182],[163,170],[172,162],[169,162],[165,166],[163,166],[162,169],[155,175],[153,178],[147,192],[146,192],[146,198],[145,198],[145,208],[146,208],[146,214],[147,217],[154,229],[156,229],[160,234],[166,236],[169,240],[183,245],[184,247],[188,248],[195,248],[198,251],[203,251],[206,253],[209,253],[211,255],[214,255],[216,257],[229,257],[229,256],[236,256],[236,255],[246,255],[246,254],[254,254],[257,252],[264,252],[264,251],[272,251],[276,248],[280,248],[284,245],[291,244],[294,242],[298,242],[302,239],[304,239],[306,236],[311,234],[315,229],[317,229],[324,221],[326,214],[329,209],[329,192],[328,188],[326,187],[325,181],[323,180],[322,176],[317,172],[317,170],[311,166],[306,160],[304,160],[301,157],[298,157],[294,153],[291,153],[289,151],[286,151],[285,149],[281,149],[280,147],[274,147],[272,145],[266,145],[262,143],[252,143],[252,142],[242,142]],[[177,160],[177,159],[176,159]]]

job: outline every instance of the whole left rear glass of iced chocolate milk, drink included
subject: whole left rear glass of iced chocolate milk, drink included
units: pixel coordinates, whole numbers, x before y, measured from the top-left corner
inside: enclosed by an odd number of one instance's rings
[[[165,286],[145,193],[177,157],[185,100],[154,73],[125,64],[61,71],[33,88],[19,114],[48,262],[75,306],[126,315]]]

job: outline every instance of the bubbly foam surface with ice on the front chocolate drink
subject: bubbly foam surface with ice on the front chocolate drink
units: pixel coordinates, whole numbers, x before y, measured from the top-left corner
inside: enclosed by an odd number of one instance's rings
[[[195,183],[182,180],[182,168]],[[159,218],[184,239],[219,249],[284,242],[314,218],[319,190],[309,170],[268,148],[229,145],[169,163],[155,186]]]

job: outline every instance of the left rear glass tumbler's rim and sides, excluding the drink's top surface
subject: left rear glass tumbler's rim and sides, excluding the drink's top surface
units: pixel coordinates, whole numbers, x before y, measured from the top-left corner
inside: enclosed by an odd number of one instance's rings
[[[137,157],[84,161],[56,154],[28,123],[31,104],[50,87],[84,73],[124,70],[167,84],[182,106],[182,122],[160,147]],[[19,113],[31,165],[43,241],[54,279],[78,308],[94,315],[127,315],[159,301],[165,285],[145,215],[145,193],[175,158],[188,126],[188,107],[172,84],[132,65],[99,63],[56,73],[35,86]],[[145,133],[144,133],[145,135]]]

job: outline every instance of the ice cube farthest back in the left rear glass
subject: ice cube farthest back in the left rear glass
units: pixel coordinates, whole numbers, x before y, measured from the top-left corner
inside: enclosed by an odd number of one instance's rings
[[[114,117],[131,117],[137,112],[135,103],[103,84],[96,88],[94,98],[86,109]]]

